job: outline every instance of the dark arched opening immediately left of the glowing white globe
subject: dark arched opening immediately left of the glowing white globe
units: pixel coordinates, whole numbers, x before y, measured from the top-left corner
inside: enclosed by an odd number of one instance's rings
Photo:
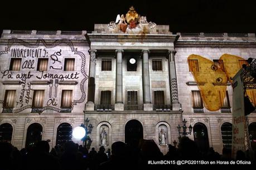
[[[56,146],[62,147],[64,143],[72,140],[72,126],[69,123],[61,123],[57,128]]]

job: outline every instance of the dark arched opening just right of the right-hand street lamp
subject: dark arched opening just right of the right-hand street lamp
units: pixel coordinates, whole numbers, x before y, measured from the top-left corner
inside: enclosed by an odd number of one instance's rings
[[[201,152],[207,152],[209,149],[209,138],[207,127],[203,123],[196,123],[193,127],[194,141]]]

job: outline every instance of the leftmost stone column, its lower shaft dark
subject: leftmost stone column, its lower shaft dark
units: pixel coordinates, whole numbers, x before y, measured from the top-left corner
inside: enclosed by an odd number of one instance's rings
[[[90,53],[90,73],[88,87],[88,101],[85,106],[86,111],[94,111],[95,98],[95,66],[96,66],[96,49],[89,49]]]

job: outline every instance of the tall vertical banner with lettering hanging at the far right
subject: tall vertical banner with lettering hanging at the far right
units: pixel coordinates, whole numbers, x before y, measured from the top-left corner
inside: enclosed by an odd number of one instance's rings
[[[233,131],[232,131],[232,158],[238,150],[245,151],[244,136],[244,86],[243,69],[240,69],[233,78]]]

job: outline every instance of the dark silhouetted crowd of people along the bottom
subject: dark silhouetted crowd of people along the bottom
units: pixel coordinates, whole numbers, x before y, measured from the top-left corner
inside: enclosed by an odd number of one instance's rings
[[[134,140],[130,144],[114,142],[110,149],[105,151],[102,146],[96,152],[90,152],[78,144],[69,141],[63,147],[51,148],[48,141],[40,141],[35,145],[23,148],[20,151],[11,143],[0,142],[0,169],[34,170],[34,169],[79,169],[79,170],[108,170],[108,169],[202,169],[207,165],[186,164],[178,166],[178,160],[205,160],[205,161],[231,161],[231,149],[223,149],[223,153],[209,151],[200,152],[197,144],[191,139],[181,138],[178,147],[168,145],[169,151],[163,155],[160,148],[153,140]],[[251,161],[248,169],[254,169],[254,158],[249,152],[238,151],[235,160]],[[171,161],[171,164],[153,164],[160,161]],[[234,160],[234,161],[235,161]],[[151,161],[151,163],[149,163]],[[224,165],[226,166],[226,165]],[[244,166],[244,165],[241,165]],[[213,166],[207,167],[208,169]]]

